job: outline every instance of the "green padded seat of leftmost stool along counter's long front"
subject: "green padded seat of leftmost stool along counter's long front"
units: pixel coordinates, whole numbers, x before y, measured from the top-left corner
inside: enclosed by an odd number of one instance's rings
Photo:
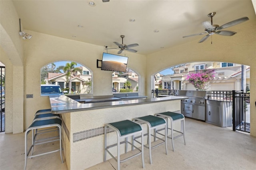
[[[142,130],[142,128],[139,124],[134,123],[130,120],[114,122],[114,123],[110,123],[110,125],[117,128],[119,130],[121,136]]]

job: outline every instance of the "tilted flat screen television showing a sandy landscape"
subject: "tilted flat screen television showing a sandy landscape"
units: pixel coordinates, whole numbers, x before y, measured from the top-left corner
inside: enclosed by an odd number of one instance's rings
[[[128,57],[115,54],[102,54],[101,70],[126,72]]]

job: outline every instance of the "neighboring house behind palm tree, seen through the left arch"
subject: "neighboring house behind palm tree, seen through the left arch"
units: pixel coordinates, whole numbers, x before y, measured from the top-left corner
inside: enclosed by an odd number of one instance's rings
[[[92,73],[86,67],[80,67],[82,69],[82,74],[80,72],[73,72],[71,74],[71,89],[74,93],[87,94],[90,93],[86,82],[92,80]],[[69,88],[69,80],[66,79],[66,73],[48,73],[48,79],[46,79],[46,84],[58,84],[62,89]]]

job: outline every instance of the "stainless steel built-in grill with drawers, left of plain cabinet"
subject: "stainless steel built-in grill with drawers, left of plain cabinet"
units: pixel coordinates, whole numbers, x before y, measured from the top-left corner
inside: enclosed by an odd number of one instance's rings
[[[186,96],[188,99],[181,100],[180,112],[190,118],[205,119],[206,91],[201,90],[177,90],[176,96]]]

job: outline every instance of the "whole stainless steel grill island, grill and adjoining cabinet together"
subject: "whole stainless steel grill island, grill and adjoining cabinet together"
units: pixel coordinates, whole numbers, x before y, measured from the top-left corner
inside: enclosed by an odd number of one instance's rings
[[[177,90],[176,96],[186,96],[180,102],[180,112],[186,117],[203,120],[220,127],[232,126],[232,100],[211,98],[211,91]]]

